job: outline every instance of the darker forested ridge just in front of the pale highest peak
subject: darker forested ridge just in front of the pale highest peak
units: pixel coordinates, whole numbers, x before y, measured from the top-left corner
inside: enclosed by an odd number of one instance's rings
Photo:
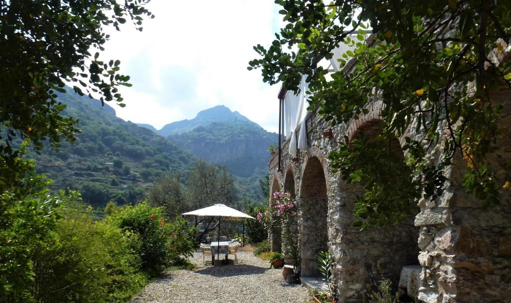
[[[268,146],[277,141],[278,135],[251,121],[229,120],[212,122],[168,138],[195,156],[225,164],[233,174],[248,178],[258,169],[267,170]]]

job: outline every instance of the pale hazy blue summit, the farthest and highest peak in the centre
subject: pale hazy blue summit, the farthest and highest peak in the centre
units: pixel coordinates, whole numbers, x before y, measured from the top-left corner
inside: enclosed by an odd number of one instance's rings
[[[250,121],[247,117],[243,116],[239,112],[232,112],[227,107],[218,105],[199,112],[193,119],[169,123],[161,128],[161,130],[157,131],[157,133],[161,136],[168,137],[171,135],[191,132],[198,127],[204,127],[213,122],[225,121],[244,121],[259,127],[257,123]]]

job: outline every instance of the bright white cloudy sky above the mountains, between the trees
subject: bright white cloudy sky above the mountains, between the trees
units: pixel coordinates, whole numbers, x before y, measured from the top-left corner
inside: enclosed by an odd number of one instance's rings
[[[133,86],[120,89],[126,107],[111,104],[118,117],[161,129],[225,105],[278,130],[280,86],[246,68],[258,56],[252,46],[269,46],[281,27],[273,0],[152,0],[146,7],[155,18],[144,30],[126,22],[121,32],[109,31],[100,56],[119,59],[120,72],[131,77]]]

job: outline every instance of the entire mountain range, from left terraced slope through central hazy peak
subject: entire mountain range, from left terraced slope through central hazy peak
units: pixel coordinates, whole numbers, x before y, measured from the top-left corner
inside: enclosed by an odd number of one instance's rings
[[[132,203],[144,198],[157,178],[183,173],[202,158],[230,168],[239,199],[265,199],[258,181],[267,174],[267,147],[277,135],[241,114],[214,107],[166,125],[172,135],[164,137],[158,134],[164,129],[126,122],[107,104],[69,91],[58,99],[67,106],[65,115],[80,120],[83,134],[75,144],[62,142],[58,151],[27,152],[37,171],[54,181],[53,189],[80,190],[84,201],[100,208],[109,200]]]

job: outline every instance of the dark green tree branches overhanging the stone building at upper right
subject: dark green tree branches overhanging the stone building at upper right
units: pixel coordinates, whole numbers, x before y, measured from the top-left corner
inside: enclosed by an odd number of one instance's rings
[[[282,6],[286,25],[268,48],[254,46],[260,58],[250,61],[249,69],[260,68],[265,82],[282,82],[289,90],[297,90],[306,75],[309,109],[319,107],[319,114],[333,125],[358,119],[369,112],[370,103],[381,100],[380,136],[386,141],[402,138],[405,157],[400,161],[410,167],[403,176],[415,186],[413,197],[424,194],[434,199],[444,187],[444,168],[454,157],[463,157],[467,164],[463,185],[486,204],[498,201],[499,188],[511,178],[507,160],[498,165],[489,160],[492,154],[502,156],[499,142],[505,137],[500,122],[506,112],[502,99],[494,95],[510,91],[508,2],[276,3]],[[366,39],[368,29],[374,34]],[[321,60],[331,59],[341,44],[349,48],[338,60],[341,70],[327,75]],[[426,155],[440,142],[442,156],[430,161]],[[350,154],[341,147],[330,159],[352,182],[368,182],[366,194],[358,199],[357,215],[365,219],[366,214],[369,225],[396,222],[391,213],[403,213],[392,201],[396,188],[385,187],[380,165],[360,166]],[[352,178],[351,173],[357,176]],[[382,212],[385,205],[395,212]]]

